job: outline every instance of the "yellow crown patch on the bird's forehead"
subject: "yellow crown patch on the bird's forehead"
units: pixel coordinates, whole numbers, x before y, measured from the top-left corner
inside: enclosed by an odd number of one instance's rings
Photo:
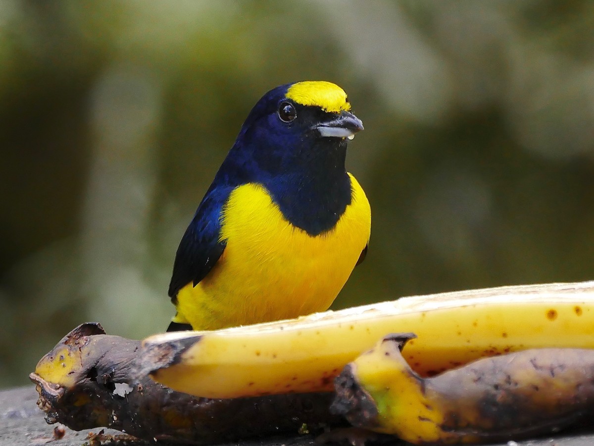
[[[350,103],[345,90],[331,82],[303,81],[293,84],[287,90],[287,99],[301,105],[314,105],[327,112],[349,111]]]

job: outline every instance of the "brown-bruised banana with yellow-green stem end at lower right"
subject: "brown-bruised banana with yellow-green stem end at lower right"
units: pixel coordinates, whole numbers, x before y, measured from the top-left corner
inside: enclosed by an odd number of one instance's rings
[[[557,432],[594,413],[594,350],[536,348],[421,378],[388,335],[336,379],[330,407],[357,428],[413,444],[506,441]]]

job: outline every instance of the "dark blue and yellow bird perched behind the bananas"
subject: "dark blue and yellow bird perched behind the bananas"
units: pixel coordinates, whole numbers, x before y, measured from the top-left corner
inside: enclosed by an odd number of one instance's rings
[[[168,331],[327,310],[365,258],[371,208],[346,171],[363,130],[345,91],[300,81],[267,92],[198,205],[173,262]]]

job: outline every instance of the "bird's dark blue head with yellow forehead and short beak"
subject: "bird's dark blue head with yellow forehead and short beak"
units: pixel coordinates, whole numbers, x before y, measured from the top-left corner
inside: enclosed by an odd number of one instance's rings
[[[232,152],[273,175],[313,163],[344,166],[347,141],[361,130],[342,88],[327,81],[296,82],[270,90],[256,103]]]

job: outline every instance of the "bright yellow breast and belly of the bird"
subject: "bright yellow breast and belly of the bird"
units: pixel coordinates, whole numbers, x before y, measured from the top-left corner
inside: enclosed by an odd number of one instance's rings
[[[206,278],[179,291],[178,321],[217,329],[327,310],[371,229],[367,197],[350,180],[352,202],[333,230],[315,237],[286,221],[263,186],[235,189],[223,208],[225,251]]]

